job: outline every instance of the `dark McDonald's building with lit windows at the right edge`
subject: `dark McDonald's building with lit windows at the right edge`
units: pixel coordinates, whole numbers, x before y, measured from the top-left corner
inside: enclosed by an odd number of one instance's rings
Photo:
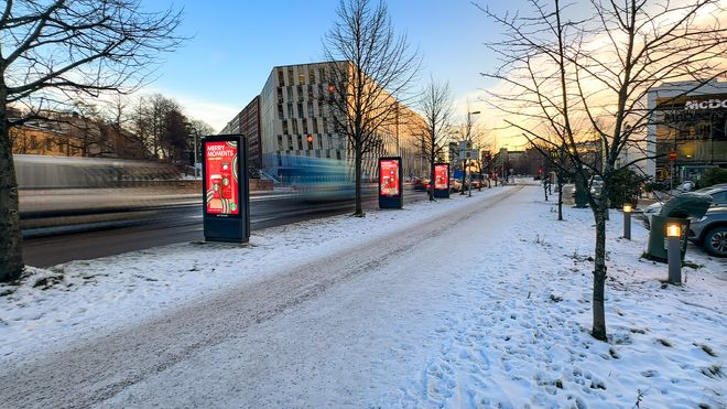
[[[698,180],[710,168],[727,166],[727,83],[713,80],[694,90],[697,85],[671,83],[648,93],[653,114],[645,152],[627,154],[633,160],[655,153],[642,169],[658,181]]]

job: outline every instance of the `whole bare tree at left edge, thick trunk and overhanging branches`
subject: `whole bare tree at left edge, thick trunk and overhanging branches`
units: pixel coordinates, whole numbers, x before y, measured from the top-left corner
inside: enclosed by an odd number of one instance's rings
[[[40,110],[77,94],[140,85],[159,54],[182,41],[174,35],[180,13],[140,10],[137,0],[7,0],[0,6],[0,281],[23,270],[10,128],[35,116],[11,120],[8,108]]]

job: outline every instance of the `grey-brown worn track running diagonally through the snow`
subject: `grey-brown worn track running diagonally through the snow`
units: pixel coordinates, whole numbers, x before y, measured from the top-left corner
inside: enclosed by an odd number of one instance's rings
[[[436,215],[406,229],[391,232],[315,262],[281,271],[273,277],[209,293],[150,321],[85,340],[65,351],[40,354],[32,362],[4,368],[0,402],[9,407],[89,407],[128,387],[166,370],[257,324],[313,300],[336,284],[431,240],[453,225],[477,215],[522,189],[498,192],[474,201],[457,212]],[[393,213],[392,213],[393,214]],[[241,267],[243,268],[243,267]],[[99,329],[99,334],[102,333]]]

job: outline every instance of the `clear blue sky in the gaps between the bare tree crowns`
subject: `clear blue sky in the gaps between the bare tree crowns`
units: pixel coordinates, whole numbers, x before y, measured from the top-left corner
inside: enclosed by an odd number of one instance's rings
[[[520,3],[511,0],[508,7]],[[219,130],[260,93],[273,66],[322,60],[322,39],[336,19],[338,1],[144,0],[143,4],[150,10],[184,8],[180,33],[194,36],[164,56],[159,78],[144,92],[175,98],[189,117]],[[482,43],[495,39],[497,31],[470,1],[390,0],[388,7],[394,29],[405,32],[423,55],[422,85],[430,76],[448,80],[460,101],[492,85],[479,73],[495,65]]]

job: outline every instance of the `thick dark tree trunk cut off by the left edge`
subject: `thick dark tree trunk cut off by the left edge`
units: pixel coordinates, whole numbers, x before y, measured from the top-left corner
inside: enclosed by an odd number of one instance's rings
[[[20,233],[18,180],[6,117],[6,90],[0,90],[0,281],[10,281],[23,272],[23,241]]]

